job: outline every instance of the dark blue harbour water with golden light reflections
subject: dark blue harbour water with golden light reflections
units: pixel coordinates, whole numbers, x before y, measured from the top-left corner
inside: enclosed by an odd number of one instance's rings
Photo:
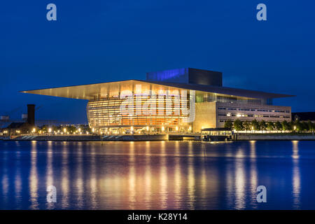
[[[0,209],[315,209],[314,168],[314,141],[0,141]]]

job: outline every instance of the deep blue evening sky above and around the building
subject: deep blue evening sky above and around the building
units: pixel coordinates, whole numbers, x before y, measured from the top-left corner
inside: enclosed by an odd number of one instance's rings
[[[48,3],[57,21],[46,20]],[[267,21],[255,18],[267,5]],[[86,101],[19,93],[193,67],[223,85],[295,94],[274,104],[315,111],[314,1],[3,1],[0,114],[87,123]]]

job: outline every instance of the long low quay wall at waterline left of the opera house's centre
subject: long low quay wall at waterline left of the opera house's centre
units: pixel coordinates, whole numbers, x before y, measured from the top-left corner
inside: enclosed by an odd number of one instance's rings
[[[5,141],[163,141],[167,134],[153,135],[26,135],[19,137],[1,137]]]

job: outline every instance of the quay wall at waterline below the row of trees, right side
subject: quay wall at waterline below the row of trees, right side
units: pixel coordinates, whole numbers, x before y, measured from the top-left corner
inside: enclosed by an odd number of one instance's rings
[[[312,134],[234,134],[235,141],[315,141]]]

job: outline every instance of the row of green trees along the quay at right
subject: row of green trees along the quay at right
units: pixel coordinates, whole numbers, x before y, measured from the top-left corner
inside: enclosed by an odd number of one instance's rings
[[[239,119],[227,120],[224,123],[224,127],[236,131],[265,131],[265,130],[278,130],[278,131],[296,131],[296,132],[314,132],[315,123],[312,123],[310,120],[307,122],[300,122],[300,120],[295,121],[286,121],[282,122],[265,122],[265,120],[252,120],[252,121],[242,121]]]

